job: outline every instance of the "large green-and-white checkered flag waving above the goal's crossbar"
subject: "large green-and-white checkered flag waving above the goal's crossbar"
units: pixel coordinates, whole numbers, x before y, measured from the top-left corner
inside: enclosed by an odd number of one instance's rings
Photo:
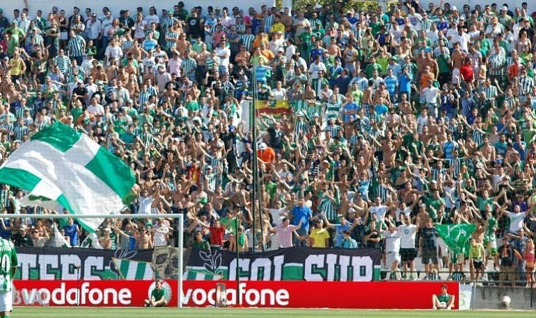
[[[0,183],[29,191],[34,206],[59,203],[73,214],[102,214],[102,219],[79,219],[94,231],[132,198],[135,178],[125,162],[88,135],[56,122],[8,157],[0,167]]]

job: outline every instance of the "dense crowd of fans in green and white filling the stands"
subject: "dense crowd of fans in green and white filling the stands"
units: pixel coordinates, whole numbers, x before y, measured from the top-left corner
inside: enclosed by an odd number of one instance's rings
[[[491,268],[530,285],[527,3],[328,3],[0,9],[1,158],[60,121],[132,167],[139,194],[125,213],[184,213],[196,249],[377,248],[393,278],[415,279],[420,256],[420,278],[475,281]],[[256,112],[257,140],[253,102],[274,110]],[[10,218],[50,212],[22,196],[1,185],[0,234],[46,246],[50,222]],[[173,219],[157,220],[107,219],[97,245],[173,244]],[[475,224],[468,253],[449,253],[434,224]],[[59,228],[72,246],[86,237],[72,219]]]

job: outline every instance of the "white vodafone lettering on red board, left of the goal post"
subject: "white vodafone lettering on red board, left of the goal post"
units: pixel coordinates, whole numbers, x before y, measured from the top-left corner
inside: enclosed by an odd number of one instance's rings
[[[67,288],[65,283],[60,287],[49,289],[42,288],[22,288],[13,291],[14,305],[40,305],[54,306],[76,305],[130,305],[132,303],[132,292],[128,288],[92,288],[90,283],[85,282],[80,288]]]

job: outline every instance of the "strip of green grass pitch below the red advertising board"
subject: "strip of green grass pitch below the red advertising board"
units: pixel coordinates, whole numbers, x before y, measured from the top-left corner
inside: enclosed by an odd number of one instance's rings
[[[508,318],[536,317],[530,311],[432,311],[432,310],[334,310],[334,309],[265,309],[265,308],[15,308],[11,317],[475,317]]]

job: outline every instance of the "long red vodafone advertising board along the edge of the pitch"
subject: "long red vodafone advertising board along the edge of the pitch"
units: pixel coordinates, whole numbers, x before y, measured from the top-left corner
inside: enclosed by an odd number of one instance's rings
[[[244,307],[431,309],[441,285],[456,296],[459,284],[442,282],[184,281],[183,304],[214,306],[216,283],[225,283],[227,304]],[[152,281],[16,281],[15,306],[143,306]],[[163,284],[168,306],[177,306],[177,281]]]

